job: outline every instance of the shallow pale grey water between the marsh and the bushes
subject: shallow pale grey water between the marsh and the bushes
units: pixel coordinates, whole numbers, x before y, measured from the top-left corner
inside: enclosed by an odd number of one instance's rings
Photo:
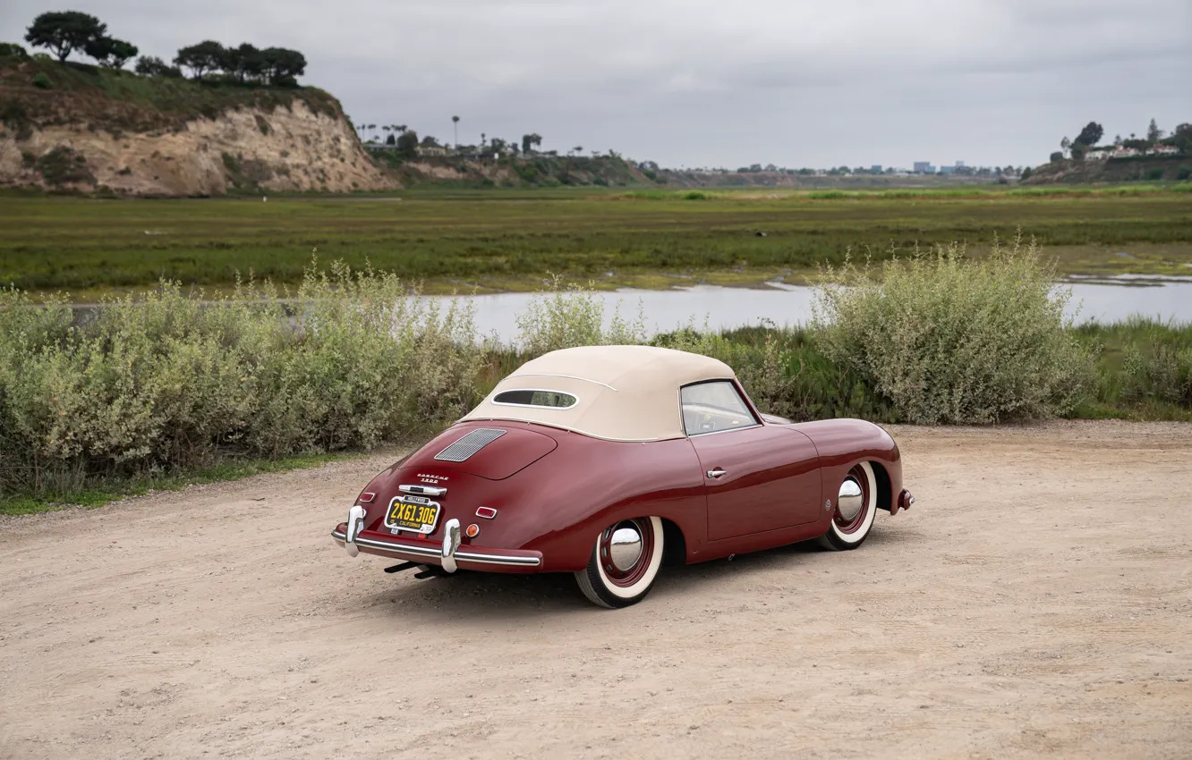
[[[1068,311],[1078,322],[1119,322],[1134,314],[1192,322],[1192,276],[1072,278],[1060,287],[1072,288]],[[702,328],[704,319],[712,330],[757,325],[765,319],[776,325],[794,325],[806,323],[812,313],[812,288],[784,284],[758,289],[715,285],[670,291],[623,288],[598,292],[596,297],[604,301],[606,322],[619,304],[622,317],[637,317],[640,303],[651,332],[665,332],[693,320],[696,328]],[[526,311],[534,295],[497,293],[466,298],[476,305],[480,332],[508,342],[517,337],[517,314]]]

